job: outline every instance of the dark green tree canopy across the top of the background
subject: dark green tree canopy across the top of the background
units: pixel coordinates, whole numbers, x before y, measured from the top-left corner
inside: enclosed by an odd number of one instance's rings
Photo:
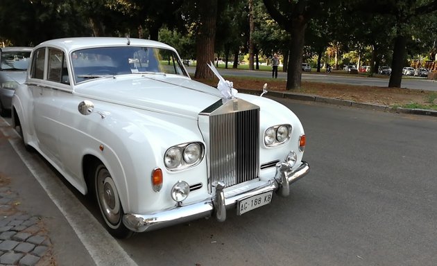
[[[239,67],[281,56],[287,89],[299,89],[301,63],[402,67],[435,60],[437,0],[2,0],[0,41],[35,46],[46,39],[121,36],[157,39],[196,59],[198,78],[218,58]],[[228,64],[226,64],[228,67]]]

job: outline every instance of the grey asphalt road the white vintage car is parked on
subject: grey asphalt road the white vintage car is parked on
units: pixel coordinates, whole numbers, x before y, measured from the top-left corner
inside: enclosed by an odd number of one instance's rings
[[[97,247],[96,265],[105,265],[98,251],[119,247],[130,265],[437,265],[437,118],[275,100],[298,114],[307,134],[311,172],[290,197],[228,213],[223,223],[197,220],[112,242],[97,238],[105,233],[85,197],[58,193],[61,205],[85,204],[79,213],[67,207],[67,216],[81,217],[74,227],[83,227],[86,249]],[[65,190],[53,169],[41,172],[51,176],[46,186]]]

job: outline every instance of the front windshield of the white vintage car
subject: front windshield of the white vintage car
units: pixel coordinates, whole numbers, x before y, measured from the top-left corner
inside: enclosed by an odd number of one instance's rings
[[[173,74],[188,76],[178,55],[151,47],[101,47],[74,51],[71,64],[76,83],[124,74]]]

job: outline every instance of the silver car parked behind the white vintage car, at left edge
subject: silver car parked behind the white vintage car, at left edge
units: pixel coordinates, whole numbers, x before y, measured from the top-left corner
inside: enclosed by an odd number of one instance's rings
[[[10,112],[15,89],[26,80],[31,47],[0,48],[0,115]]]

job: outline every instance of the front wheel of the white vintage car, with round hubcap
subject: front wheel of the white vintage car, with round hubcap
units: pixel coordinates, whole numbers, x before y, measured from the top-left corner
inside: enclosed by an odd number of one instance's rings
[[[134,232],[130,231],[122,221],[124,212],[114,180],[103,164],[99,164],[95,168],[94,189],[98,207],[110,234],[116,238],[132,236]]]

